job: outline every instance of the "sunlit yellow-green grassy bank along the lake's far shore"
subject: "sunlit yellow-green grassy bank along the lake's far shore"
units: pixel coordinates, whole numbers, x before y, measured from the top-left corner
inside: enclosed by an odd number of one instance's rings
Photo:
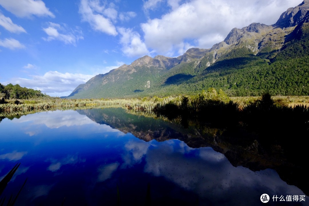
[[[228,103],[232,100],[237,103],[240,109],[258,101],[261,97],[228,97],[222,91],[216,91],[209,88],[207,91],[201,91],[200,94],[194,96],[185,96],[188,104],[194,104],[199,100],[218,100]],[[304,105],[308,107],[309,96],[274,96],[272,97],[274,104],[277,106],[294,107],[295,105]],[[126,107],[131,111],[142,111],[151,113],[165,105],[174,104],[180,107],[183,96],[169,97],[144,97],[130,99],[9,99],[0,103],[0,112],[16,112],[16,111],[44,111],[51,109],[66,109],[74,107],[84,107],[90,105],[107,106],[118,105]]]

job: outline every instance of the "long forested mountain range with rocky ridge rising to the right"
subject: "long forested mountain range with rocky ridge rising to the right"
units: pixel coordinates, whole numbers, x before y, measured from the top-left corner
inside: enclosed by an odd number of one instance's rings
[[[308,10],[305,0],[273,25],[233,28],[210,49],[139,58],[96,75],[67,98],[188,95],[208,87],[229,95],[309,95]]]

